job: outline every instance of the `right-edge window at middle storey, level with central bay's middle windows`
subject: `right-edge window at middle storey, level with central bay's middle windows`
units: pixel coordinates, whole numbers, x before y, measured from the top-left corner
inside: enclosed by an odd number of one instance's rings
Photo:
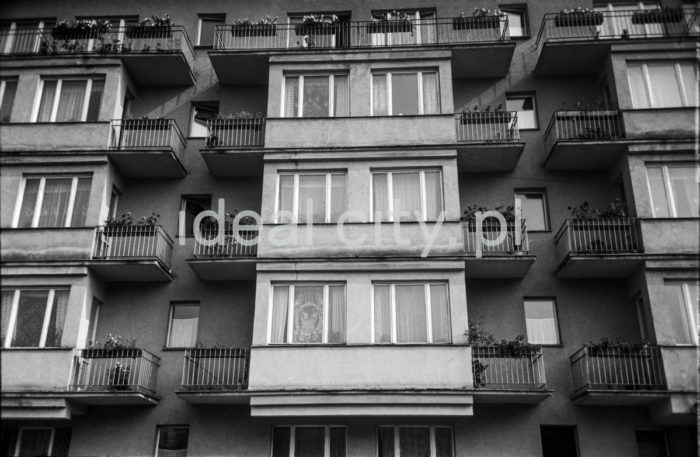
[[[700,167],[647,165],[646,168],[654,217],[700,216]]]

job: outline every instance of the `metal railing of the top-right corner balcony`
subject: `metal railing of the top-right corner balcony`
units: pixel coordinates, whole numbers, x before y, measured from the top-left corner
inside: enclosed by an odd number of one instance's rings
[[[548,41],[626,40],[697,36],[697,8],[548,13],[537,35]]]

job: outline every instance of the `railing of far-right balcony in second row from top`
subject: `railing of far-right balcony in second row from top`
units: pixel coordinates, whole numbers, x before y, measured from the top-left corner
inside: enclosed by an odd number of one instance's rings
[[[549,151],[557,141],[605,141],[624,138],[625,134],[617,110],[557,111],[544,137]]]

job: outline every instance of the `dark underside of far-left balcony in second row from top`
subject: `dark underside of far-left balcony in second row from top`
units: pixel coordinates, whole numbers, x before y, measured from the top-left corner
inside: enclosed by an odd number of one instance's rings
[[[182,178],[187,174],[172,150],[110,150],[109,158],[127,178]]]

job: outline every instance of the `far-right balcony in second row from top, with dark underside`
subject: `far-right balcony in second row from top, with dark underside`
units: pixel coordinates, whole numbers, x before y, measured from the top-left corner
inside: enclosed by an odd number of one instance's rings
[[[607,169],[627,142],[619,111],[557,111],[544,134],[549,170]]]

